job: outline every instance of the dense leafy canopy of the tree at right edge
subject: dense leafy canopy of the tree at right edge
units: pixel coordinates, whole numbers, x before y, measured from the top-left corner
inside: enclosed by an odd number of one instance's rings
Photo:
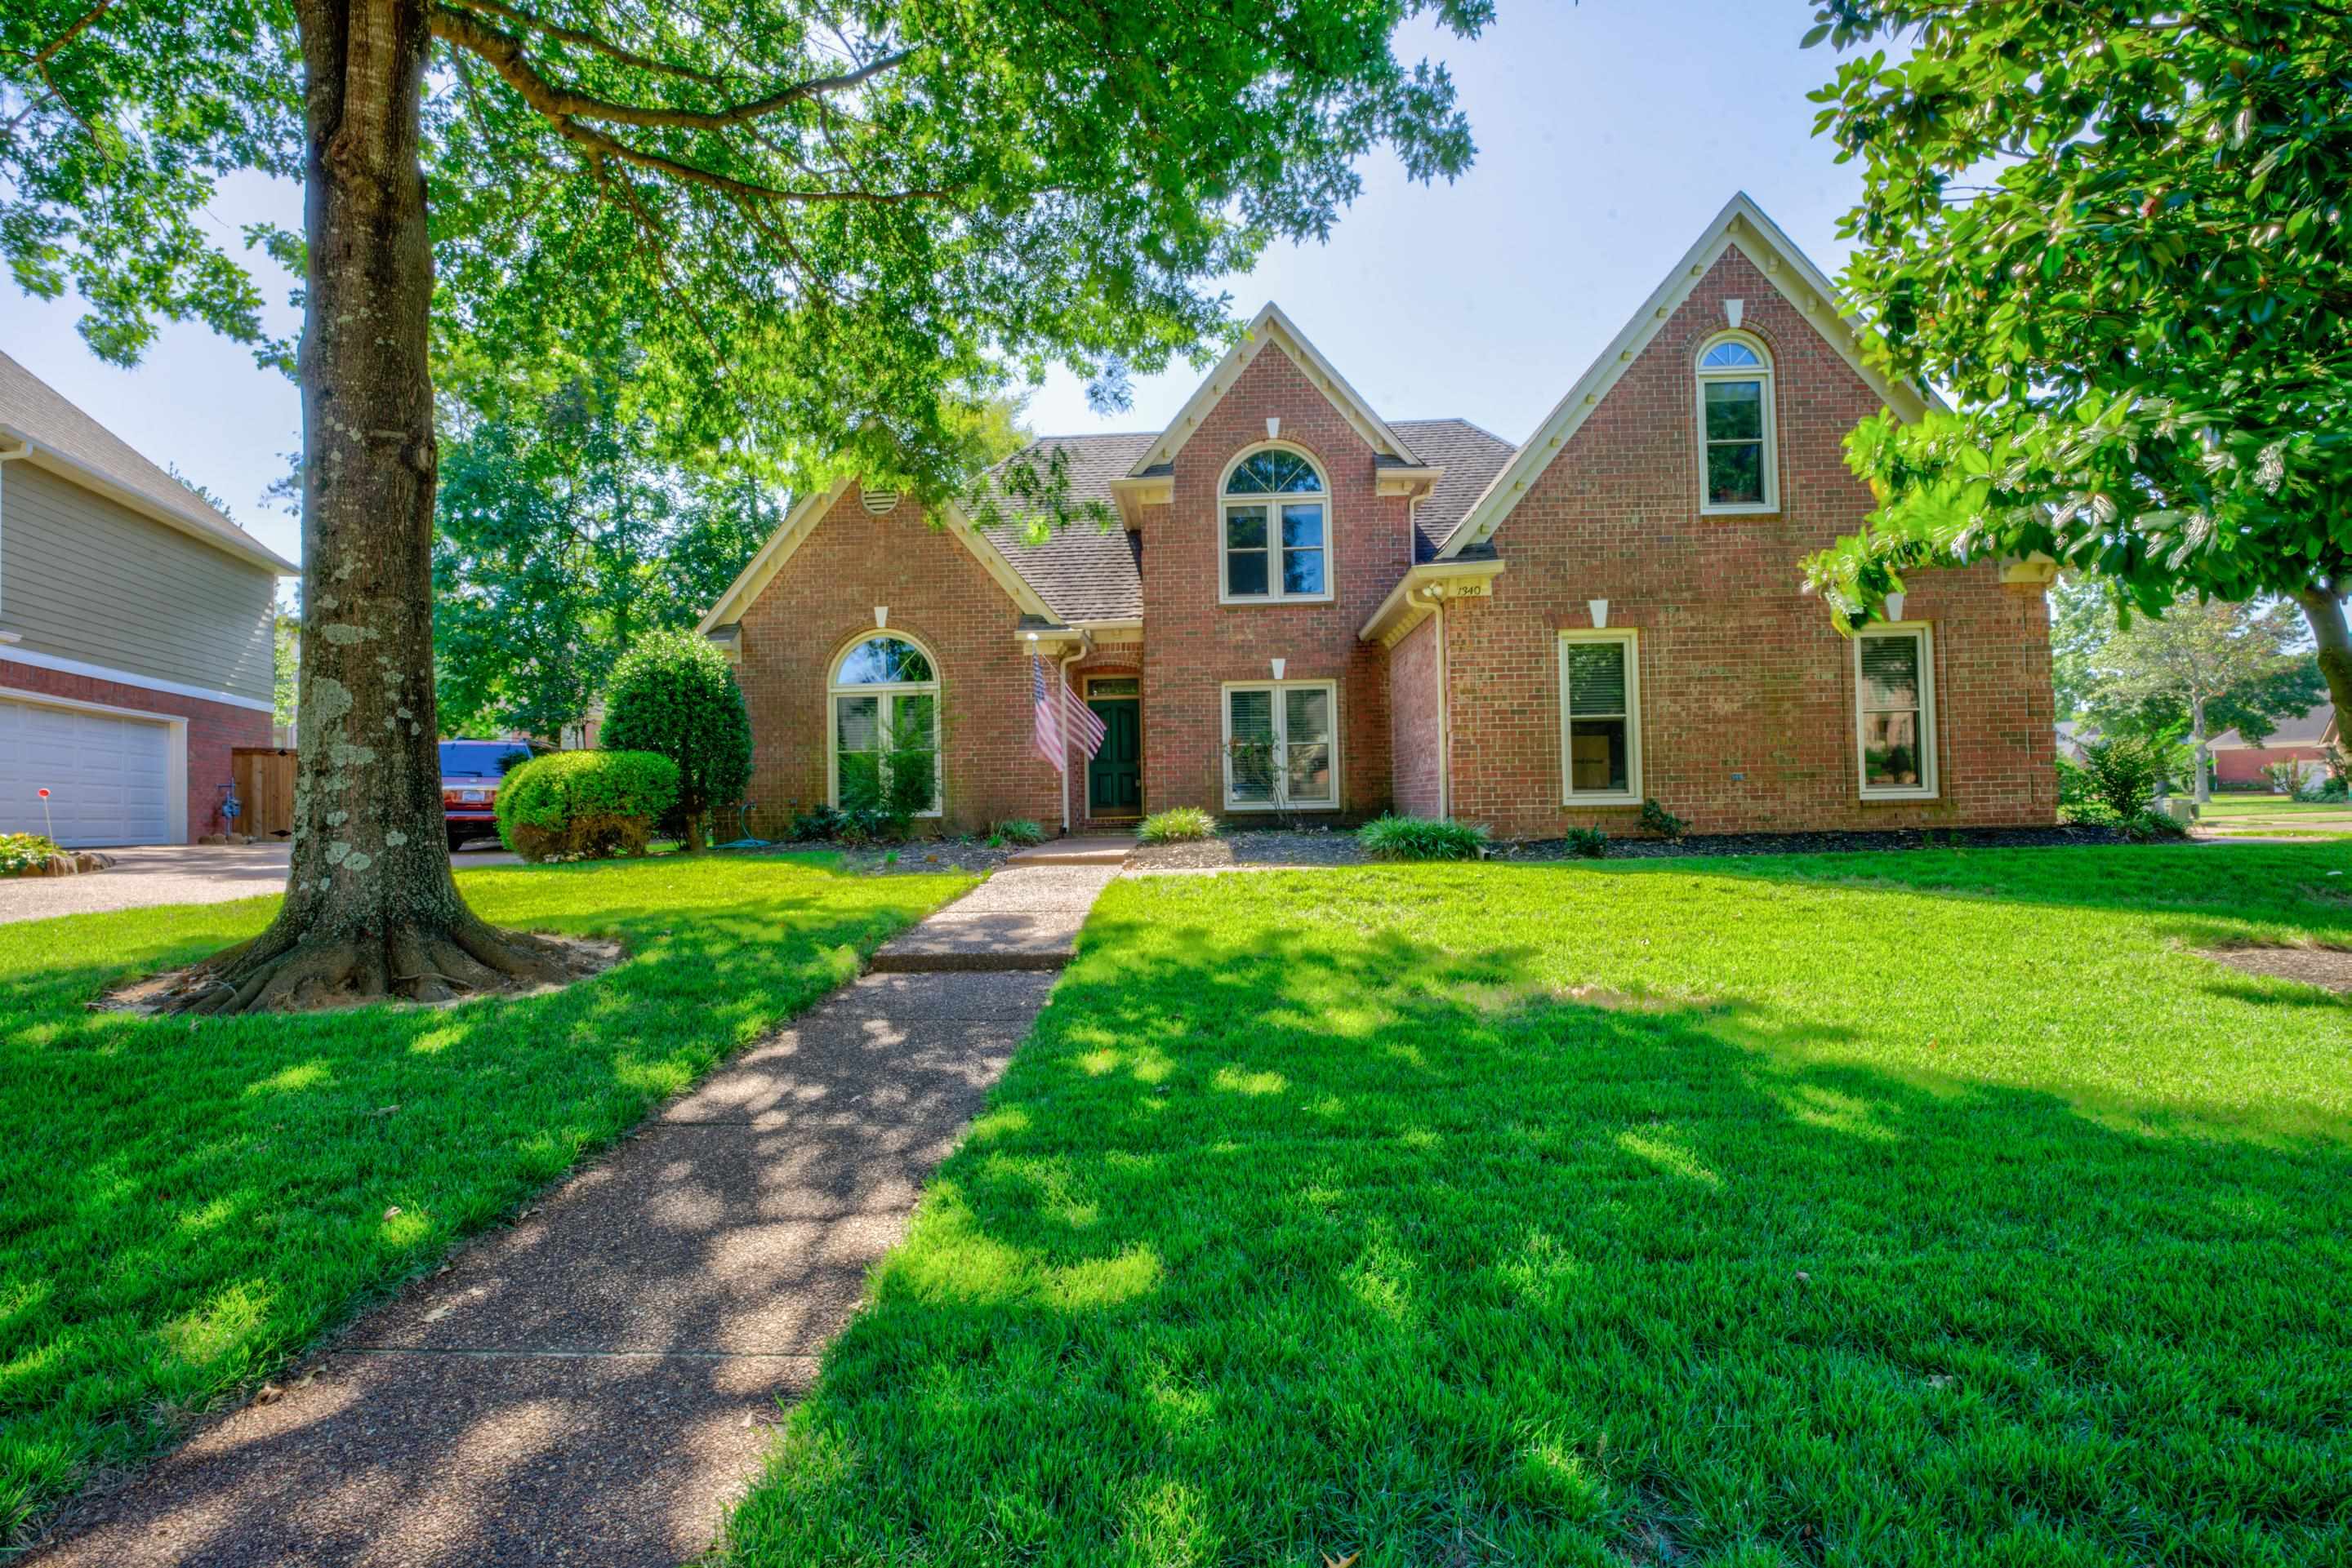
[[[1896,38],[1816,94],[1863,172],[1844,287],[1952,393],[1849,440],[1867,527],[1806,562],[1842,623],[1917,564],[2049,555],[2161,611],[2296,597],[2352,649],[2352,9],[1830,0]]]

